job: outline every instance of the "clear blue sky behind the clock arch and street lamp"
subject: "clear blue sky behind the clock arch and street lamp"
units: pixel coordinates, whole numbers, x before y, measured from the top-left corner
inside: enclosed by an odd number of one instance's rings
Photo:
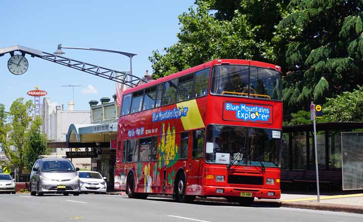
[[[177,42],[178,16],[187,12],[194,0],[0,0],[0,48],[13,45],[53,53],[58,44],[71,47],[102,48],[137,54],[132,73],[138,77],[152,73],[148,57]],[[129,70],[129,58],[100,51],[62,49],[64,57],[117,71]],[[89,110],[88,102],[116,93],[115,82],[26,55],[29,68],[13,75],[7,68],[10,54],[0,57],[0,103],[9,109],[12,101],[33,97],[27,91],[39,87],[48,92],[53,104],[72,100],[75,110]]]

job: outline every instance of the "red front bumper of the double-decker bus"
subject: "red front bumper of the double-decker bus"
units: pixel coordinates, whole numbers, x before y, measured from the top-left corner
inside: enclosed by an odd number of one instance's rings
[[[265,199],[280,199],[280,189],[266,188],[242,188],[242,187],[224,187],[224,186],[203,186],[204,196],[214,197],[241,197],[252,194],[252,197]]]

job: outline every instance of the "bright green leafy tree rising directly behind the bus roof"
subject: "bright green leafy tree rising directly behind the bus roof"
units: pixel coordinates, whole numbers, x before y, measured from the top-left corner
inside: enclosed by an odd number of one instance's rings
[[[217,58],[278,59],[270,44],[286,0],[196,0],[179,16],[178,42],[149,60],[160,78]],[[212,14],[215,12],[214,14]],[[268,19],[266,19],[268,18]]]

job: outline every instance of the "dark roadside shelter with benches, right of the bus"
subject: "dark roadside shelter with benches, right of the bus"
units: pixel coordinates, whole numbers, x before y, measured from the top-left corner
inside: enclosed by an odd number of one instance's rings
[[[319,184],[326,190],[363,189],[363,123],[316,124]],[[316,189],[313,125],[283,127],[282,188]]]

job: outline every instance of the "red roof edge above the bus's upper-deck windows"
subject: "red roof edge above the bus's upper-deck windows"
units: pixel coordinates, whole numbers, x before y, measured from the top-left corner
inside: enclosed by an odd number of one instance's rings
[[[169,80],[176,79],[176,78],[178,78],[180,76],[183,76],[185,74],[193,73],[193,72],[196,72],[196,71],[208,68],[208,67],[212,67],[214,65],[220,65],[220,64],[251,65],[251,66],[258,66],[258,67],[263,67],[263,68],[272,68],[272,69],[275,69],[276,71],[281,72],[281,67],[280,66],[276,66],[276,65],[273,65],[273,64],[270,64],[270,63],[265,63],[265,62],[258,62],[258,61],[253,61],[253,60],[244,60],[244,59],[215,59],[215,60],[212,60],[210,62],[206,62],[206,63],[200,64],[200,65],[191,67],[189,69],[185,69],[183,71],[171,74],[169,76],[166,76],[166,77],[163,77],[163,78],[160,78],[160,79],[157,79],[157,80],[150,81],[150,82],[142,84],[140,86],[125,89],[122,92],[122,94],[128,94],[130,92],[138,91],[140,89],[145,89],[145,88],[148,88],[148,87],[151,87],[151,86],[155,86],[155,85],[157,85],[159,83],[164,83],[164,82],[167,82]]]

